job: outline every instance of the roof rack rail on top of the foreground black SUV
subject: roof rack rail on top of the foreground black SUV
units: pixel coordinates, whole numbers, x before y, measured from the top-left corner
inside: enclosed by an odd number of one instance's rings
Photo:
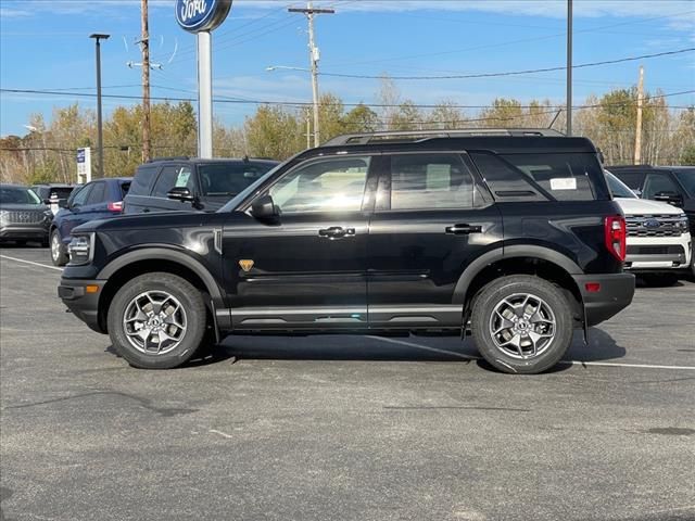
[[[425,141],[435,138],[457,138],[471,136],[543,136],[564,137],[563,132],[552,128],[463,128],[458,130],[391,130],[383,132],[345,134],[338,136],[321,147],[342,147],[344,144],[367,144],[375,141]]]

